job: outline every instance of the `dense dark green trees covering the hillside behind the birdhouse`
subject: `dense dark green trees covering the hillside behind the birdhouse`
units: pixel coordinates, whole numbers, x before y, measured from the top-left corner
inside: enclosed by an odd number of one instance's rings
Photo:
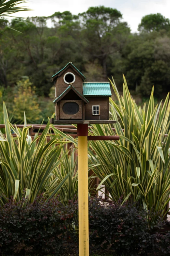
[[[27,76],[36,94],[48,97],[51,76],[72,61],[86,81],[107,81],[113,75],[121,90],[124,73],[135,93],[148,96],[154,85],[155,95],[162,97],[170,90],[169,20],[147,15],[133,34],[122,17],[116,9],[99,6],[78,15],[64,11],[26,22],[4,21],[0,86],[13,88]]]

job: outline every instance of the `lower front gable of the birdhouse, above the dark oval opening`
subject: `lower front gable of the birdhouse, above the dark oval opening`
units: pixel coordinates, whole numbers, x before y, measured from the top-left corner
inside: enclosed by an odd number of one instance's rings
[[[83,100],[85,103],[88,103],[88,100],[77,91],[72,85],[68,86],[65,91],[63,91],[60,96],[58,96],[53,103],[56,104],[60,100]]]

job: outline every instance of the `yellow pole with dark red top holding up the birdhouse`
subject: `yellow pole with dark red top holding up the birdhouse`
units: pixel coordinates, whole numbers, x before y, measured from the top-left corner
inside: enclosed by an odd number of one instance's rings
[[[89,256],[88,239],[88,125],[78,124],[79,256]]]

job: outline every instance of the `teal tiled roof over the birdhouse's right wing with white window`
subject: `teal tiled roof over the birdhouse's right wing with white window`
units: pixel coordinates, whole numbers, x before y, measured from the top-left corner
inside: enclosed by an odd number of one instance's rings
[[[84,96],[107,96],[111,97],[111,89],[109,82],[84,82],[83,83]]]

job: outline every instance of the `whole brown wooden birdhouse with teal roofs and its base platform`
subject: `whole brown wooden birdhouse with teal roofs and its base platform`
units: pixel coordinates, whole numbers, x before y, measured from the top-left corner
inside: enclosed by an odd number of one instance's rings
[[[85,82],[69,62],[52,76],[55,83],[55,120],[51,123],[115,123],[109,121],[109,82]]]

